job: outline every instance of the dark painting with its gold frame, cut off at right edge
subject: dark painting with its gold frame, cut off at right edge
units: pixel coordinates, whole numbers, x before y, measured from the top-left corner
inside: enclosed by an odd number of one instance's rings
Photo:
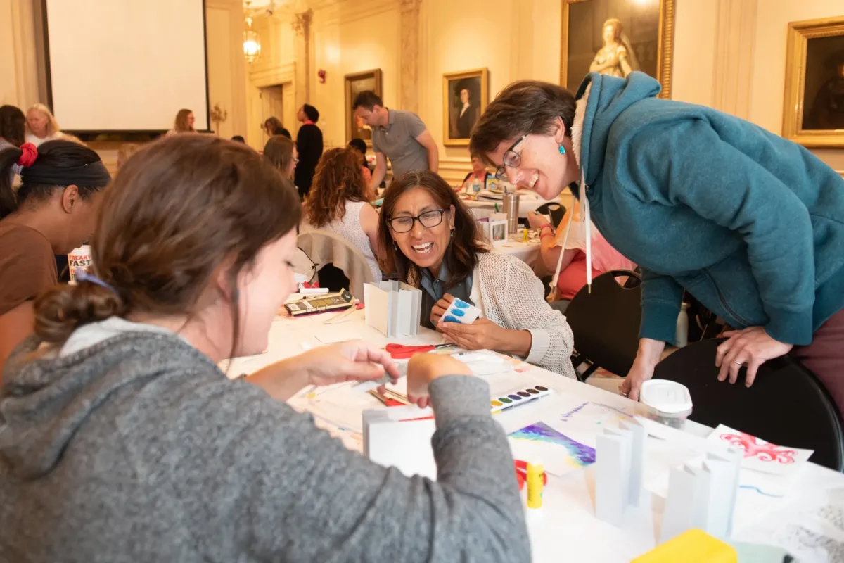
[[[821,117],[826,84],[844,82],[835,75],[841,72],[839,65],[844,65],[844,16],[788,24],[783,137],[804,147],[844,148],[844,111],[837,110],[831,120]]]

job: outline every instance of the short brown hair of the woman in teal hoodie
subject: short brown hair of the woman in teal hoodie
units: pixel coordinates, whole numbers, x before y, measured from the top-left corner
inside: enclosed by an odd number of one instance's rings
[[[507,86],[486,106],[472,131],[469,152],[478,153],[488,165],[500,143],[534,133],[548,134],[557,117],[563,120],[565,134],[571,136],[575,119],[575,97],[557,84],[522,80]]]

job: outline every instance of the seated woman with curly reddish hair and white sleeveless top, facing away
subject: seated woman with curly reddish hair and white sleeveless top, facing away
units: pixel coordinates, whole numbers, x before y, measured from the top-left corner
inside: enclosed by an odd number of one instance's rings
[[[364,176],[354,149],[329,149],[322,154],[305,198],[301,232],[327,230],[349,241],[366,258],[373,278],[381,281],[378,212],[369,203]]]

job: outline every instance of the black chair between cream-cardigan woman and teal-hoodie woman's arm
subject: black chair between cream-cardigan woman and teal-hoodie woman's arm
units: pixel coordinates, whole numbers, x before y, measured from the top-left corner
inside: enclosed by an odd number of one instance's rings
[[[622,287],[616,278],[628,277]],[[639,283],[636,283],[639,282]],[[641,322],[641,277],[630,270],[612,270],[592,280],[592,293],[584,286],[565,310],[575,337],[575,368],[592,365],[578,377],[585,380],[598,367],[626,376],[636,359]]]

